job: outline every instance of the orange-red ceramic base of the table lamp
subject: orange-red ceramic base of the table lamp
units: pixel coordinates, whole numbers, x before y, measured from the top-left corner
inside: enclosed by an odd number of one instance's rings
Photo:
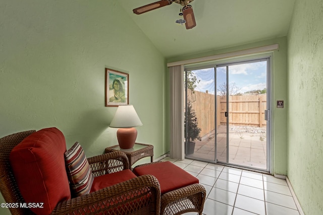
[[[117,130],[117,139],[121,149],[131,149],[135,145],[137,138],[136,128],[119,128]]]

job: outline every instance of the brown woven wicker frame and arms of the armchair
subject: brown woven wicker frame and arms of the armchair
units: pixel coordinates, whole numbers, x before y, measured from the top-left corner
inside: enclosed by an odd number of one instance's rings
[[[6,202],[24,203],[15,180],[9,155],[12,149],[35,130],[0,138],[0,189]],[[127,156],[113,152],[88,158],[94,177],[129,169]],[[125,199],[124,197],[127,196]],[[33,214],[28,208],[9,208],[12,214]],[[87,195],[62,201],[51,214],[159,214],[160,186],[154,176],[144,175]]]

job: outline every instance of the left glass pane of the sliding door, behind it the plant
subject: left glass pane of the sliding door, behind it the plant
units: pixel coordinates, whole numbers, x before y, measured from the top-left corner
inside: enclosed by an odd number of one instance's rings
[[[187,157],[214,161],[214,70],[186,71],[184,131]]]

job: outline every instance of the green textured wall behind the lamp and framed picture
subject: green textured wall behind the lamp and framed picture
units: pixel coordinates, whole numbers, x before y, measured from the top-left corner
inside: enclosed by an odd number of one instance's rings
[[[155,158],[167,153],[165,59],[117,0],[2,0],[0,136],[55,126],[87,157],[118,144],[105,67],[129,73],[137,141],[154,145]]]

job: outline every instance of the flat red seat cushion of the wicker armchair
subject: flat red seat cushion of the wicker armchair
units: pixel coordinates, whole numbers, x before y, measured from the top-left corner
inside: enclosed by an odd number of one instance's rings
[[[129,169],[94,177],[90,193],[136,177]]]

